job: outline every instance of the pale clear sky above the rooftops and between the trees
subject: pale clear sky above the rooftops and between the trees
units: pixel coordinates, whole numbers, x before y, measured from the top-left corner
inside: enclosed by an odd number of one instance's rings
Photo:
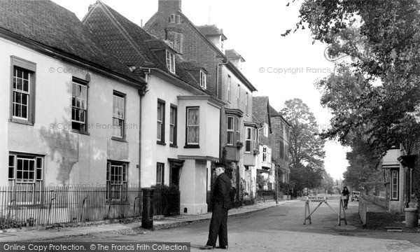
[[[94,0],[53,0],[82,20]],[[158,10],[158,0],[102,0],[141,26]],[[300,98],[314,113],[318,128],[329,125],[330,113],[320,104],[316,80],[328,76],[334,64],[324,57],[325,45],[313,43],[309,29],[281,36],[294,29],[300,1],[182,0],[182,12],[195,25],[217,25],[228,38],[225,48],[235,49],[246,60],[242,72],[257,88],[254,96],[268,96],[274,109],[288,99]],[[348,166],[346,151],[337,142],[325,144],[325,169],[342,179]]]

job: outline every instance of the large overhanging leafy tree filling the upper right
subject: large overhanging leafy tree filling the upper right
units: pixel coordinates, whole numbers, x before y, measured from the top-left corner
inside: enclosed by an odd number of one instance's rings
[[[323,137],[352,146],[349,136],[361,134],[376,158],[399,143],[412,153],[420,137],[419,1],[301,2],[295,30],[309,27],[314,41],[329,45],[331,58],[351,56],[350,64],[318,83],[324,105],[333,111],[332,127]],[[416,162],[414,176],[419,172]]]

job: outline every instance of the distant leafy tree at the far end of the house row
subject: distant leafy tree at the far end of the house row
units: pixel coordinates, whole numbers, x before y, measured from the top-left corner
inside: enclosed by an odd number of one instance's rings
[[[314,114],[301,99],[286,101],[281,112],[291,125],[289,167],[295,192],[321,186],[325,140],[318,136]]]

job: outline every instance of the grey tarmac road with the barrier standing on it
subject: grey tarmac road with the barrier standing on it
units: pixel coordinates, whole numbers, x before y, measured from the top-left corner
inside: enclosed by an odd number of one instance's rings
[[[338,211],[337,200],[328,201]],[[311,203],[311,210],[317,203]],[[367,231],[358,223],[357,202],[346,210],[349,225],[337,225],[338,217],[325,204],[311,216],[312,224],[303,225],[304,202],[290,201],[279,207],[228,219],[228,251],[420,251],[419,233]],[[191,251],[206,243],[209,221],[181,228],[147,231],[130,235],[102,232],[83,237],[65,237],[51,241],[166,241],[190,242]],[[217,249],[218,251],[221,251]]]

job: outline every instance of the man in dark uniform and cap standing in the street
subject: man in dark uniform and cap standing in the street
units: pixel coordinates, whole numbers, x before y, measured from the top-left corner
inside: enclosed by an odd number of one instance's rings
[[[219,238],[220,248],[228,248],[228,211],[230,204],[230,178],[225,174],[226,165],[216,162],[216,182],[213,192],[213,214],[211,215],[209,240],[204,249],[213,249]]]

